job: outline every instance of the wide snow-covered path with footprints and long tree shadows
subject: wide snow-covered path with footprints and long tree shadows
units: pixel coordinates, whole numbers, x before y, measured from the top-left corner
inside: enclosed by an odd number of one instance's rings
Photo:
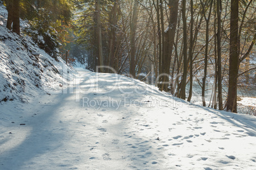
[[[68,93],[0,103],[0,169],[255,169],[255,117],[78,73]]]

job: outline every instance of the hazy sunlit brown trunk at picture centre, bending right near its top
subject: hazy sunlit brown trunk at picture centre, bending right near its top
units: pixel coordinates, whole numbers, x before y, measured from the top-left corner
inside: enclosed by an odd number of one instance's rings
[[[138,22],[138,6],[139,6],[138,0],[134,0],[134,6],[133,6],[133,11],[132,11],[132,22],[131,22],[131,60],[130,60],[130,75],[132,77],[136,76],[135,36],[136,36],[136,28],[137,28],[137,22]]]

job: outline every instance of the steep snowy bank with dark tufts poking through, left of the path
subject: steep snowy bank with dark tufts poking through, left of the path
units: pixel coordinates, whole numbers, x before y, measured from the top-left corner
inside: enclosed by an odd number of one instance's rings
[[[63,76],[71,70],[60,58],[56,62],[38,48],[30,37],[17,36],[6,29],[3,4],[0,10],[0,102],[28,102],[39,93],[61,89],[66,84]]]

